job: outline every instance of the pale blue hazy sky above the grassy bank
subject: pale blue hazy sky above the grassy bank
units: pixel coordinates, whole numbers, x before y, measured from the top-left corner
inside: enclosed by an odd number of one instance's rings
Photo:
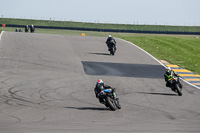
[[[200,26],[200,0],[0,0],[0,18]]]

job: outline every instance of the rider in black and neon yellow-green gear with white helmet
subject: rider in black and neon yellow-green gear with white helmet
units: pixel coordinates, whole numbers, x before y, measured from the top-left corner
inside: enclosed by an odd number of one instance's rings
[[[170,67],[167,67],[166,72],[164,74],[165,81],[166,81],[166,87],[171,87],[172,85],[172,79],[174,77],[179,77],[177,73],[175,73]],[[179,82],[180,88],[182,88],[182,84]]]

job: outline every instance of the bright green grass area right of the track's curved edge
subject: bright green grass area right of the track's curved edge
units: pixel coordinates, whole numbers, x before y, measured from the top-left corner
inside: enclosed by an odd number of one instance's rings
[[[200,36],[119,36],[166,60],[200,74]]]

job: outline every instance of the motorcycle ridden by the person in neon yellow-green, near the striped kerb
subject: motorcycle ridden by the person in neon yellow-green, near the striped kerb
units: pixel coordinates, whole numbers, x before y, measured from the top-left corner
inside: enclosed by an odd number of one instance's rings
[[[178,93],[179,96],[182,96],[182,85],[180,84],[179,82],[179,77],[174,77],[172,80],[171,80],[171,89],[172,91]]]

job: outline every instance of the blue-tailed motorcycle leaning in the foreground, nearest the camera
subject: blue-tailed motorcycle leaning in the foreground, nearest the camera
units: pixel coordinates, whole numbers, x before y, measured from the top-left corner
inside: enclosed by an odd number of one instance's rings
[[[119,101],[114,99],[114,95],[110,89],[102,90],[99,96],[103,98],[105,106],[109,107],[111,110],[115,111],[116,109],[121,109]]]

